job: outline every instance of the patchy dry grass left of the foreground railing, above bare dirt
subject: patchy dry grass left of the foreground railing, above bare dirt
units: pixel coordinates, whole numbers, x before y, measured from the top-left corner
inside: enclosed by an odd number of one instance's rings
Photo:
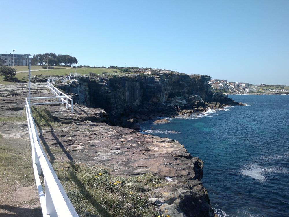
[[[5,139],[0,135],[0,179],[9,183],[30,186],[34,183],[32,169],[31,148],[27,146],[13,146],[19,144],[18,138]]]

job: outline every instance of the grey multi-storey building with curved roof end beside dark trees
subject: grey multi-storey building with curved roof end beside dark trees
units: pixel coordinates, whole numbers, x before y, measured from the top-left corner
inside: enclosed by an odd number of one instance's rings
[[[0,54],[0,64],[4,66],[28,66],[31,63],[32,56],[30,54]]]

